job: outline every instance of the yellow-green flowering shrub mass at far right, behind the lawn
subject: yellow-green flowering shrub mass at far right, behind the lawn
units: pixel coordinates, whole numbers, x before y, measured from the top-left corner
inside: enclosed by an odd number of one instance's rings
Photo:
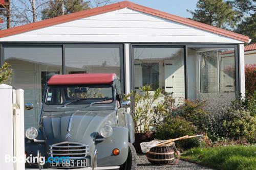
[[[231,101],[230,105],[217,106],[207,115],[206,132],[212,141],[224,139],[255,141],[256,98],[246,94],[245,98]]]

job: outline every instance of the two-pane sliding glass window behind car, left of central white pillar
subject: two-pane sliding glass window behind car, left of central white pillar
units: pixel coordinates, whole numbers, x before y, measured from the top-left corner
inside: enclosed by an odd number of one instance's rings
[[[34,105],[33,110],[25,111],[25,128],[38,126],[47,81],[63,72],[62,46],[46,46],[4,47],[4,59],[13,69],[12,86],[24,89],[25,103]],[[119,44],[66,44],[64,71],[66,74],[116,73],[122,79],[121,49]]]

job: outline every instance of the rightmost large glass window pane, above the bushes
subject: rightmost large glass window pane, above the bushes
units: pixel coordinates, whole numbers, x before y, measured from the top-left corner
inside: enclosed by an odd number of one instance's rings
[[[234,48],[188,48],[187,67],[188,99],[236,96]]]

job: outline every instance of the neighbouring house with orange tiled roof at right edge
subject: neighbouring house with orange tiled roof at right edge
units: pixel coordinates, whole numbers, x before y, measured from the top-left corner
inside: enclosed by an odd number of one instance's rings
[[[244,47],[244,63],[256,64],[256,43]]]

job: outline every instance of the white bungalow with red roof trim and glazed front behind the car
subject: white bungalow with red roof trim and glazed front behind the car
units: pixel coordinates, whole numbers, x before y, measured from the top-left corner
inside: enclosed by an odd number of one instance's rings
[[[175,98],[235,98],[245,92],[249,41],[123,1],[0,31],[0,64],[10,63],[12,85],[38,108],[25,112],[27,128],[38,125],[44,87],[56,74],[115,72],[126,93],[151,85]]]

